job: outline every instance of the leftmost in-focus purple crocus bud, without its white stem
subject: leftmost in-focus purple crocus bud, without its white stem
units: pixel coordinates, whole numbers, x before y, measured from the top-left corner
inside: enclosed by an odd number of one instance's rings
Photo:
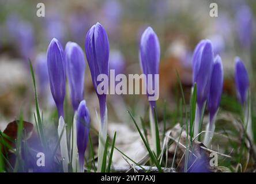
[[[47,66],[51,94],[58,109],[59,117],[63,117],[63,102],[66,92],[65,63],[63,48],[57,39],[52,39],[47,49]]]

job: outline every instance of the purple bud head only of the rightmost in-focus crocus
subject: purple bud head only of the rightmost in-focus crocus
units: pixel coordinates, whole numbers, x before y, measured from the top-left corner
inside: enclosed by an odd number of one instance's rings
[[[238,99],[244,105],[249,89],[249,76],[246,67],[239,57],[235,57],[235,83]]]

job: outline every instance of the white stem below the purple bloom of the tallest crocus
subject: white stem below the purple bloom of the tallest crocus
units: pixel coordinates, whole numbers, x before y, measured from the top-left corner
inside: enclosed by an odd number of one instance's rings
[[[101,166],[103,162],[103,155],[104,149],[107,139],[107,123],[108,123],[108,116],[107,116],[107,106],[104,114],[103,120],[100,120],[100,128],[99,128],[99,150],[98,150],[98,165],[97,165],[97,172],[101,172]]]

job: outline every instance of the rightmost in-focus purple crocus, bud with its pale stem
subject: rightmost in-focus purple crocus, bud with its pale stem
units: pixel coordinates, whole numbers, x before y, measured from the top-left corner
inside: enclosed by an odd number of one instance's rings
[[[238,99],[244,109],[244,125],[247,134],[251,139],[253,139],[250,107],[251,104],[249,99],[249,76],[246,67],[244,66],[242,60],[239,57],[235,57],[235,84]]]

